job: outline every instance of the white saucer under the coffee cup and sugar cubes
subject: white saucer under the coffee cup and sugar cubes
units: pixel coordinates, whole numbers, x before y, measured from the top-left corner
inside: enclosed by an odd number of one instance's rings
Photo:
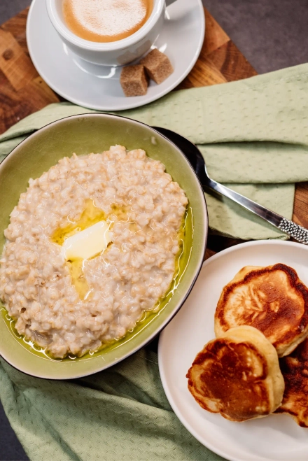
[[[166,21],[155,48],[166,52],[174,73],[165,82],[151,81],[145,96],[125,97],[120,69],[93,65],[84,69],[52,27],[44,0],[33,0],[27,20],[27,45],[36,70],[46,83],[69,101],[99,111],[122,111],[155,101],[188,75],[204,41],[204,9],[201,0],[177,0],[167,8]]]

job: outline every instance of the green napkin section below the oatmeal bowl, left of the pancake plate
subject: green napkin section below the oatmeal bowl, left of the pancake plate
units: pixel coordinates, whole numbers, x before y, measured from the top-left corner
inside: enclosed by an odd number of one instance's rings
[[[32,461],[223,460],[176,418],[151,351],[70,382],[31,378],[0,361],[1,401]]]

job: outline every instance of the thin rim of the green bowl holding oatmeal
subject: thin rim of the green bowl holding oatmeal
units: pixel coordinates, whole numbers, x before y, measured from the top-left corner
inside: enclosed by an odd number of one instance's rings
[[[208,234],[209,234],[209,215],[208,215],[208,211],[207,211],[207,201],[206,201],[205,196],[204,196],[204,191],[203,191],[203,188],[202,188],[202,184],[200,183],[200,179],[198,178],[197,173],[195,173],[195,170],[193,169],[193,166],[190,164],[189,160],[186,158],[186,155],[183,153],[183,151],[178,146],[176,146],[176,144],[174,142],[172,142],[167,136],[161,134],[156,129],[154,129],[150,125],[147,125],[144,122],[139,122],[139,120],[134,120],[134,119],[129,118],[129,117],[124,117],[123,115],[110,114],[110,113],[100,113],[100,112],[99,113],[80,113],[80,114],[76,114],[76,115],[69,115],[69,116],[64,117],[64,118],[59,118],[57,120],[54,120],[53,122],[48,123],[47,125],[44,125],[43,127],[39,128],[39,129],[36,129],[35,132],[29,134],[29,136],[27,136],[27,138],[20,141],[20,143],[18,143],[18,145],[15,146],[15,148],[13,148],[13,150],[11,150],[10,153],[8,153],[8,155],[6,155],[6,157],[0,162],[0,174],[1,174],[1,169],[3,168],[3,164],[5,164],[8,161],[8,159],[10,159],[12,157],[12,154],[14,154],[15,151],[18,150],[18,148],[20,148],[20,146],[22,146],[22,144],[27,143],[27,141],[29,139],[33,139],[38,132],[41,133],[41,132],[47,131],[51,126],[61,125],[61,123],[64,120],[79,119],[79,118],[97,118],[97,117],[99,117],[99,118],[100,117],[102,117],[102,118],[115,118],[115,119],[121,118],[121,119],[124,119],[124,120],[128,120],[129,122],[132,122],[135,125],[142,125],[142,126],[146,127],[146,129],[150,129],[152,132],[154,132],[155,135],[161,137],[162,139],[165,139],[167,141],[167,143],[171,144],[173,146],[173,148],[175,150],[177,150],[180,153],[180,155],[182,155],[183,159],[187,162],[188,167],[193,172],[193,176],[195,176],[195,180],[197,181],[197,185],[199,186],[199,189],[200,189],[200,192],[201,192],[201,197],[203,197],[203,199],[202,199],[202,208],[203,208],[203,211],[204,211],[204,213],[203,213],[203,221],[204,221],[204,237],[205,238],[204,238],[203,245],[202,245],[202,252],[200,252],[201,254],[200,254],[200,257],[199,257],[198,264],[196,264],[196,267],[193,270],[193,274],[194,274],[193,275],[193,280],[190,282],[190,286],[189,286],[188,290],[186,291],[185,295],[183,295],[181,301],[178,302],[178,304],[175,306],[173,311],[167,316],[167,318],[161,323],[161,325],[159,325],[158,328],[156,328],[154,330],[154,332],[150,336],[148,336],[148,338],[144,339],[144,341],[141,341],[141,343],[139,343],[137,346],[132,348],[132,350],[129,350],[127,353],[124,353],[124,355],[122,355],[118,359],[114,360],[112,363],[105,364],[102,367],[100,367],[99,369],[95,369],[94,371],[91,371],[91,372],[85,372],[85,373],[81,373],[81,374],[77,373],[76,376],[55,377],[55,376],[46,376],[46,374],[45,374],[45,376],[40,376],[40,374],[31,374],[29,371],[25,371],[23,369],[20,369],[15,364],[10,362],[10,359],[8,359],[6,357],[6,354],[3,355],[3,353],[0,350],[0,357],[3,360],[5,360],[8,364],[10,364],[11,367],[17,369],[18,371],[22,372],[23,374],[26,374],[28,376],[32,376],[32,377],[35,377],[35,378],[49,379],[49,380],[51,379],[52,381],[62,381],[62,380],[66,380],[66,379],[70,380],[70,379],[83,378],[84,376],[90,376],[92,374],[99,373],[99,371],[103,371],[105,369],[113,367],[113,365],[116,365],[119,362],[122,362],[122,360],[125,360],[127,357],[130,357],[130,355],[132,355],[134,353],[137,353],[138,350],[140,350],[141,348],[144,348],[144,346],[146,346],[148,343],[153,341],[153,339],[155,339],[155,337],[158,336],[158,334],[160,334],[160,332],[162,332],[162,330],[169,324],[169,322],[171,322],[172,318],[174,318],[174,315],[176,315],[176,313],[179,312],[179,310],[181,309],[183,304],[186,302],[186,299],[190,295],[191,290],[193,290],[193,287],[194,287],[194,285],[195,285],[195,283],[197,281],[197,278],[198,278],[198,276],[200,274],[200,271],[202,269],[202,265],[204,263],[204,255],[205,255],[205,250],[207,248],[207,238],[208,238]],[[0,318],[0,321],[1,321],[1,318]],[[40,358],[40,357],[38,357],[38,358]],[[62,362],[59,362],[59,364],[61,364],[61,363]]]

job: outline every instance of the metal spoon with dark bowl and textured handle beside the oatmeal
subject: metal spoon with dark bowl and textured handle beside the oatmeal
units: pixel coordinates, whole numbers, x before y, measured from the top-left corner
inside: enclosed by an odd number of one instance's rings
[[[293,237],[293,239],[299,241],[300,243],[304,243],[304,245],[308,245],[308,230],[302,226],[295,224],[295,222],[290,221],[283,216],[275,213],[274,211],[265,208],[262,205],[255,203],[255,201],[251,199],[247,199],[241,194],[238,194],[234,190],[229,189],[229,187],[225,187],[220,183],[217,183],[215,180],[209,178],[207,173],[207,166],[204,162],[204,158],[202,157],[202,153],[200,150],[193,144],[192,142],[188,141],[188,139],[181,136],[181,134],[172,132],[170,129],[160,128],[160,127],[153,127],[162,135],[166,136],[170,141],[172,141],[176,146],[178,146],[183,154],[186,156],[190,164],[193,166],[200,183],[202,184],[203,190],[207,187],[211,190],[215,190],[218,194],[224,195],[235,201],[237,204],[244,206],[246,210],[251,211],[255,215],[260,216],[265,221],[269,222],[269,224],[277,227],[285,234]]]

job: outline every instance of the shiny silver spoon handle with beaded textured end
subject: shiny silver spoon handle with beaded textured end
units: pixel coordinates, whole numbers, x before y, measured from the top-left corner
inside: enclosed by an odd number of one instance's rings
[[[295,224],[293,221],[283,218],[283,216],[278,213],[270,211],[268,208],[265,208],[265,206],[255,203],[255,201],[229,189],[229,187],[216,183],[213,179],[207,178],[204,186],[209,187],[210,189],[218,192],[218,194],[224,195],[225,197],[228,197],[228,199],[235,201],[237,204],[244,206],[246,210],[260,216],[260,218],[263,218],[265,221],[269,222],[269,224],[272,224],[285,234],[293,237],[293,239],[299,241],[300,243],[304,243],[304,245],[308,245],[308,229]]]

